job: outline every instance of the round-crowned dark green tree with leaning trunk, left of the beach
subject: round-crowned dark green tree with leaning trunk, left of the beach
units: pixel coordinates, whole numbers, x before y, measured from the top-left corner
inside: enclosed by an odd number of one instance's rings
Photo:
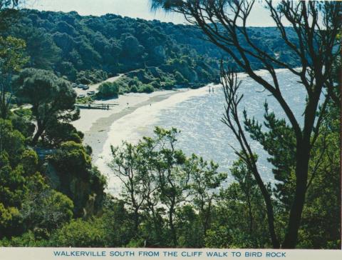
[[[76,92],[68,81],[58,79],[51,71],[21,71],[16,79],[16,96],[32,105],[32,114],[37,123],[33,145],[37,144],[46,128],[55,121],[70,122],[78,119]]]

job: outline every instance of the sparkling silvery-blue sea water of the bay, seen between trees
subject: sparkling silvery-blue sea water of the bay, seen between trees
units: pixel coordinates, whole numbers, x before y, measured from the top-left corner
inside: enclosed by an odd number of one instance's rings
[[[265,79],[271,79],[262,71],[260,74]],[[289,71],[279,69],[277,75],[284,98],[289,102],[299,122],[302,122],[301,115],[304,111],[306,97],[303,87],[296,82],[298,78]],[[243,75],[242,80],[240,92],[244,93],[244,98],[239,105],[241,114],[245,108],[249,117],[254,116],[257,120],[262,121],[264,101],[267,100],[269,110],[274,111],[279,118],[285,117],[284,112],[280,109],[273,96],[270,96],[267,91],[262,92],[262,86]],[[151,108],[151,114],[147,110],[137,111],[128,118],[123,118],[122,121],[113,124],[111,131],[115,136],[115,132],[118,133],[120,129],[129,126],[130,130],[125,134],[124,139],[135,142],[141,136],[151,136],[155,126],[162,126],[166,129],[175,127],[181,131],[178,136],[178,149],[182,149],[188,155],[195,153],[204,159],[213,160],[219,164],[220,171],[229,173],[229,167],[237,159],[237,155],[234,154],[229,144],[237,150],[239,150],[239,145],[232,131],[221,121],[224,113],[222,86],[215,86],[214,93],[210,94],[208,88],[204,88],[199,90],[200,94],[188,96],[182,101],[169,103],[165,101],[165,104],[162,104],[162,101],[159,108],[155,109],[157,111],[153,110],[153,107]],[[136,121],[135,124],[132,123],[134,121]],[[252,141],[252,149],[259,155],[258,166],[264,181],[273,182],[271,165],[266,160],[268,154],[254,141]],[[107,152],[104,154],[107,154]],[[229,175],[227,181],[232,181],[232,176]]]

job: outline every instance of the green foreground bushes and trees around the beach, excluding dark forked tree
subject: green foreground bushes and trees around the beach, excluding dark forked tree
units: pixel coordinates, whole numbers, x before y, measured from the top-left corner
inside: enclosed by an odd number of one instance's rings
[[[6,4],[9,1],[0,0],[0,8]],[[12,12],[7,11],[0,11],[0,29],[16,27],[9,22]],[[49,26],[47,21],[43,24]],[[58,24],[70,29],[66,22]],[[249,163],[251,159],[256,163],[257,154],[240,156],[229,173],[235,181],[224,184],[227,173],[218,172],[217,164],[177,149],[176,129],[157,128],[155,136],[136,145],[113,147],[110,167],[123,189],[117,198],[105,194],[106,181],[92,165],[91,148],[83,145],[83,134],[71,125],[78,118],[78,109],[70,82],[46,68],[26,68],[39,61],[26,51],[39,47],[30,47],[29,41],[17,37],[1,34],[0,38],[1,246],[274,246],[264,194]],[[45,44],[53,46],[52,41]],[[51,66],[58,64],[52,61]],[[341,60],[334,60],[328,78],[333,84],[340,67]],[[136,84],[128,87],[149,84],[137,75],[132,79]],[[223,84],[227,98],[224,119],[234,130],[229,115],[237,111],[237,104],[231,104],[238,96],[229,96],[234,94],[234,82]],[[103,93],[120,92],[120,88],[111,88],[103,87]],[[341,111],[333,99],[341,94],[334,88],[327,96],[318,107],[320,131],[309,136],[314,145],[296,248],[341,248]],[[22,103],[28,106],[13,109],[13,104]],[[266,131],[261,131],[245,114],[244,130],[269,151],[274,176],[281,181],[265,187],[273,207],[274,233],[283,241],[298,178],[296,137],[286,120],[277,119],[266,104],[264,118]]]

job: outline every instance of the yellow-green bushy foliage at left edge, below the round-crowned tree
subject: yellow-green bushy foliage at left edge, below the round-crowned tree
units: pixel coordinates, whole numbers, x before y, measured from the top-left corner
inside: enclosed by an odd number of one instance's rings
[[[24,136],[11,121],[0,119],[0,231],[1,238],[25,231],[23,204],[46,184],[38,173],[38,156],[26,149]],[[37,201],[31,201],[36,204]]]

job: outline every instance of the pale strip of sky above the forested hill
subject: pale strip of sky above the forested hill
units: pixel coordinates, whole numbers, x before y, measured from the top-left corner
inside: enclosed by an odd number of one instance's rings
[[[157,19],[174,24],[185,24],[181,14],[151,11],[150,0],[26,0],[25,7],[40,11],[77,11],[81,15],[101,16],[104,14],[119,14],[132,18],[146,20]],[[254,6],[248,26],[274,26],[269,12],[262,4]]]

